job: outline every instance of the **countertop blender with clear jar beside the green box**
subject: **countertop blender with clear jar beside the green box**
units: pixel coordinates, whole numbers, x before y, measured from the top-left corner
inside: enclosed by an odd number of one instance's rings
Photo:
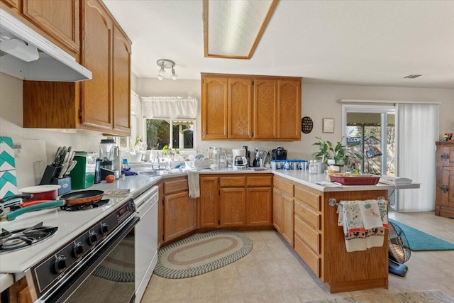
[[[116,179],[120,177],[121,167],[115,165],[118,165],[116,160],[119,158],[120,150],[115,145],[114,139],[101,139],[101,143],[99,143],[101,180],[105,180],[108,175],[114,175]]]

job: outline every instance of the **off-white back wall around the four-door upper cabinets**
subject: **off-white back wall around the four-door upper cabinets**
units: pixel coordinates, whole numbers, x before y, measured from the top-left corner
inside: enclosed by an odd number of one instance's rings
[[[196,97],[199,99],[201,84],[199,80],[138,78],[137,93],[142,97],[151,96],[180,96]],[[303,79],[304,82],[304,79]],[[311,153],[317,150],[312,144],[316,136],[330,141],[341,140],[341,104],[339,99],[373,99],[397,101],[436,101],[440,102],[440,135],[454,132],[454,89],[421,89],[402,87],[371,87],[333,84],[303,83],[301,89],[301,116],[309,116],[314,121],[314,129],[309,134],[301,133],[298,142],[267,142],[267,141],[201,141],[200,115],[197,117],[196,149],[206,150],[209,146],[222,148],[241,148],[248,145],[250,150],[258,148],[276,148],[282,145],[288,151],[288,158],[309,159]],[[333,118],[334,133],[322,133],[322,119]]]

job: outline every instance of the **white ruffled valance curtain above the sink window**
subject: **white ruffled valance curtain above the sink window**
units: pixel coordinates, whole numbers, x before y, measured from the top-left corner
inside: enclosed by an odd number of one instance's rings
[[[197,99],[192,97],[141,97],[146,119],[196,119]]]

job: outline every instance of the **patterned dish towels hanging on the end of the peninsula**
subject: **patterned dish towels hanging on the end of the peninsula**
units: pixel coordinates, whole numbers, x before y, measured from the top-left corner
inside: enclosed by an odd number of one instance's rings
[[[388,227],[387,201],[341,201],[337,212],[348,252],[383,246],[384,228]]]

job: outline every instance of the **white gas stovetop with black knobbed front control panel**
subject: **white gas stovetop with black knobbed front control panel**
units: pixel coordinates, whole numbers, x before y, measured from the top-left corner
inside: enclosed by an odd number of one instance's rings
[[[0,272],[13,274],[14,280],[25,275],[33,301],[60,302],[69,297],[74,292],[74,277],[85,279],[87,263],[101,262],[103,250],[115,247],[119,235],[124,238],[138,221],[131,196],[104,199],[109,201],[94,208],[68,211],[57,207],[0,222],[0,236],[4,236],[0,247],[15,243],[6,240],[11,233],[18,242],[21,237],[28,240],[30,234],[33,242],[17,250],[0,250]],[[34,243],[33,227],[38,233],[50,231],[50,235],[40,238],[38,234],[40,241]]]

